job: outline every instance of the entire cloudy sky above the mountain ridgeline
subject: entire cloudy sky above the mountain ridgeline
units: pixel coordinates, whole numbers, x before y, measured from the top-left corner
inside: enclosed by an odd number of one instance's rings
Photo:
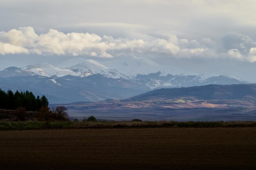
[[[0,0],[0,65],[146,57],[256,83],[255,0]]]

